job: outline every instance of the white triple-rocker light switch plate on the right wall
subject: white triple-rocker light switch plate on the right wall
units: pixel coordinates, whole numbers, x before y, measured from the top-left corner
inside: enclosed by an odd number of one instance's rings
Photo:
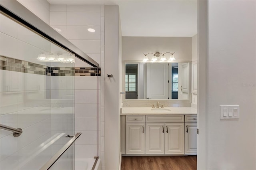
[[[220,105],[220,119],[239,119],[239,105]]]

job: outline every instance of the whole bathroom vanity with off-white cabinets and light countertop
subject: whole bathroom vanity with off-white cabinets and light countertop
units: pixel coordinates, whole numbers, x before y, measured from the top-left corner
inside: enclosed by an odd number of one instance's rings
[[[197,111],[192,107],[123,107],[123,155],[196,155]]]

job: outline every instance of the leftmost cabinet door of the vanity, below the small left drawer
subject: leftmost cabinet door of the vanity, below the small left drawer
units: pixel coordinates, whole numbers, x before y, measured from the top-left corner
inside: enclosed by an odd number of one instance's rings
[[[145,123],[126,123],[125,153],[145,154]]]

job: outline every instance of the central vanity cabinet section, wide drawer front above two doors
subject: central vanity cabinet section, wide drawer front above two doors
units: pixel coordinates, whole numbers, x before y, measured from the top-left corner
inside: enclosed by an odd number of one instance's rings
[[[146,154],[184,154],[184,115],[146,115]]]

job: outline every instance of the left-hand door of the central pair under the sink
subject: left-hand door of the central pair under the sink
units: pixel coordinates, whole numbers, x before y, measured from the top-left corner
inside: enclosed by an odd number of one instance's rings
[[[146,123],[145,153],[164,154],[164,123]]]

